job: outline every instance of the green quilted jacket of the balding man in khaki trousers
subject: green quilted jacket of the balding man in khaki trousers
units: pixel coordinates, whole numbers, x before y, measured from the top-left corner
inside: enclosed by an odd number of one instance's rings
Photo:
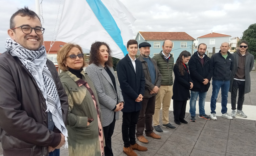
[[[164,55],[162,54],[162,51],[155,55],[152,59],[157,61],[158,69],[162,75],[162,82],[161,86],[171,86],[173,85],[172,82],[172,69],[173,69],[173,57],[172,54],[170,54],[169,62],[167,62],[164,58]]]

